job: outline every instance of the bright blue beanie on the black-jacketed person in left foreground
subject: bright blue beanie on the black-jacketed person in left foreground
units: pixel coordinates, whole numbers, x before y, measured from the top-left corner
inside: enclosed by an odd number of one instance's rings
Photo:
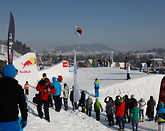
[[[2,76],[3,77],[11,77],[14,78],[17,74],[17,69],[14,67],[14,65],[9,64],[3,67],[2,69]]]

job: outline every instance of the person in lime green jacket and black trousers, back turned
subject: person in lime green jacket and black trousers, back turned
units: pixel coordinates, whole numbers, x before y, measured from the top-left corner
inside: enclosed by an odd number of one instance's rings
[[[101,109],[101,112],[103,112],[102,105],[99,102],[99,99],[96,98],[96,102],[94,103],[94,111],[96,112],[96,120],[97,121],[100,120],[100,109]]]

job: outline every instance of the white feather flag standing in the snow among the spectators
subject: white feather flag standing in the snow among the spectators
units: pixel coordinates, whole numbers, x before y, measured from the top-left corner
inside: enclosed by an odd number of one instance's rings
[[[74,88],[73,88],[73,100],[77,102],[81,98],[81,92],[78,85],[78,77],[77,77],[77,66],[76,66],[76,52],[74,51]]]

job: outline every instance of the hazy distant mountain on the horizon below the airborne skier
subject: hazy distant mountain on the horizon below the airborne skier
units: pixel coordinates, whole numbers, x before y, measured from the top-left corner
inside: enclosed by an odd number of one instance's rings
[[[53,49],[47,49],[45,51],[48,51],[49,54],[56,53],[62,55],[72,55],[73,50],[76,50],[77,54],[99,54],[117,51],[101,43],[59,46]]]

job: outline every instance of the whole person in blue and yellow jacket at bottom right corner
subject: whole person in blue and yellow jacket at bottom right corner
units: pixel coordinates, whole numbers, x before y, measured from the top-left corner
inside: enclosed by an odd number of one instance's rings
[[[158,121],[158,129],[164,131],[165,129],[165,108],[162,102],[159,103],[157,114],[155,116],[155,122]]]

